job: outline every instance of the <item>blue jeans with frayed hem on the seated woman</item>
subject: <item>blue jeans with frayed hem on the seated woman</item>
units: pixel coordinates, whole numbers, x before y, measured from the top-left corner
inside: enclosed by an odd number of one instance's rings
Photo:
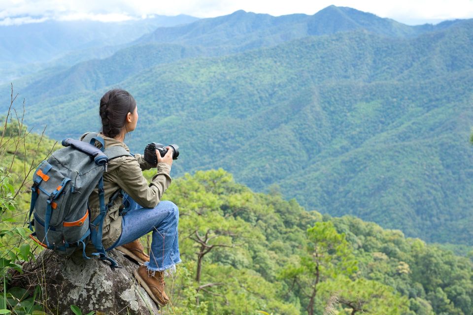
[[[122,234],[107,251],[128,244],[153,231],[149,262],[150,271],[166,271],[171,274],[181,262],[178,244],[177,224],[179,210],[170,201],[161,201],[154,208],[142,208],[127,194],[123,196],[127,211],[122,220]]]

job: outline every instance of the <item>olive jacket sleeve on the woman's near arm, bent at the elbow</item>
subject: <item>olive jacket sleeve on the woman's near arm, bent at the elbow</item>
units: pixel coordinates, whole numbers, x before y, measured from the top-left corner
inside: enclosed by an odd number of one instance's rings
[[[157,170],[157,174],[148,186],[138,160],[127,157],[119,167],[117,184],[141,207],[154,208],[171,184],[169,176],[171,167],[166,163],[158,163]]]

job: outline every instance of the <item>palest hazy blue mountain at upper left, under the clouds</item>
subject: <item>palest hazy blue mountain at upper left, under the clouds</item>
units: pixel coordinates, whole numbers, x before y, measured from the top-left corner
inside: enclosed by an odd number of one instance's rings
[[[124,22],[54,21],[0,26],[1,82],[50,66],[104,58],[157,27],[191,23],[178,15]],[[54,62],[52,62],[54,60]]]

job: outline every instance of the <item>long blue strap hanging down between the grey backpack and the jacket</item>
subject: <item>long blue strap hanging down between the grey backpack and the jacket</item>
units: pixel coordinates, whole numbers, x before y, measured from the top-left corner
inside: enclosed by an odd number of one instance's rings
[[[99,189],[99,204],[100,204],[100,213],[97,218],[91,223],[90,228],[90,237],[92,239],[92,244],[96,248],[97,252],[93,252],[94,256],[100,256],[101,260],[107,260],[110,262],[110,267],[112,268],[121,268],[118,266],[117,262],[108,257],[105,249],[102,244],[102,225],[103,219],[105,218],[106,208],[105,208],[105,190],[103,190],[103,177],[100,178],[99,184],[97,185]]]

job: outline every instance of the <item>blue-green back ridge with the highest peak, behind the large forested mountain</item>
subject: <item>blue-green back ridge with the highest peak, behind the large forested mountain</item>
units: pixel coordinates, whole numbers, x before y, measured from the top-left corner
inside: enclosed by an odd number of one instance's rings
[[[129,75],[158,64],[273,47],[309,35],[363,30],[382,36],[409,38],[462,23],[465,22],[457,20],[436,26],[412,27],[371,13],[333,5],[312,16],[293,14],[273,17],[239,10],[230,15],[201,19],[182,26],[158,28],[110,57],[87,60],[64,70],[53,68],[40,79],[35,77],[36,80],[30,80],[27,90],[34,91],[36,99],[44,93],[49,97],[69,94],[71,90],[97,90],[118,84]],[[116,50],[117,46],[111,49]],[[103,54],[110,53],[106,49],[103,51]],[[78,53],[74,56],[77,57]],[[109,75],[108,69],[113,69],[114,75]]]

